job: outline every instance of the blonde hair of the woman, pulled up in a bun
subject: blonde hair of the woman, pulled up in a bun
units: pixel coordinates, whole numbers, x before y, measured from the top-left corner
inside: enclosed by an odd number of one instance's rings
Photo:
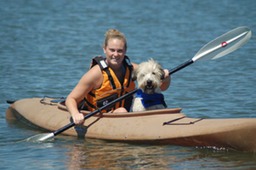
[[[108,45],[108,40],[113,38],[122,40],[124,42],[125,50],[127,50],[127,42],[126,42],[125,35],[122,32],[118,31],[117,29],[109,29],[105,33],[105,41],[104,41],[103,47],[105,48]]]

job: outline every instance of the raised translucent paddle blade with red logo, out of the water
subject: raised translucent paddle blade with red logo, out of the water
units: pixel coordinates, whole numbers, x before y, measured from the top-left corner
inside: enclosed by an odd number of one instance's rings
[[[252,32],[248,27],[238,27],[203,46],[192,58],[215,60],[243,46],[251,38]]]

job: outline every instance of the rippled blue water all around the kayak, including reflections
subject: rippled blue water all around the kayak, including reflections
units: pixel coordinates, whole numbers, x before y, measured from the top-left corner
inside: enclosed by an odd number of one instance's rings
[[[253,169],[256,155],[229,150],[129,145],[42,133],[6,122],[6,100],[66,96],[103,54],[103,35],[118,28],[134,62],[155,58],[173,68],[207,42],[238,26],[256,32],[253,0],[0,1],[1,169]],[[255,37],[216,61],[198,62],[173,75],[164,94],[169,107],[190,117],[256,117]]]

